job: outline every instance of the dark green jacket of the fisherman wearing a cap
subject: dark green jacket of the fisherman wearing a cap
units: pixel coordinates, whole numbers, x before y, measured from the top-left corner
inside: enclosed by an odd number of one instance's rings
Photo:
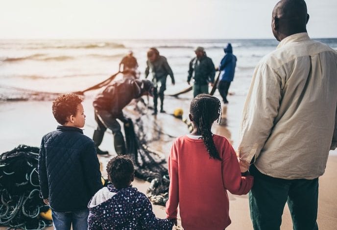
[[[216,69],[211,58],[207,57],[206,53],[198,59],[194,57],[190,62],[189,75],[187,81],[190,82],[194,71],[194,84],[207,85],[209,82],[214,82]]]

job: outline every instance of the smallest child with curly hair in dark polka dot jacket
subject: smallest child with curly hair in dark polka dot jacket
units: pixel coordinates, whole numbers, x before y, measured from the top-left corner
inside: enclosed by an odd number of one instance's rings
[[[134,165],[117,156],[107,165],[113,185],[100,189],[89,202],[89,230],[171,230],[176,219],[156,218],[144,193],[132,187]]]

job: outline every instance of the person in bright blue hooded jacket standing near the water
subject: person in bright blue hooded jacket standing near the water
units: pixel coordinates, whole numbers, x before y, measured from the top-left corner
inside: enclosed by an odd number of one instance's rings
[[[234,78],[237,57],[233,55],[233,49],[230,43],[228,43],[227,47],[225,47],[223,51],[226,55],[222,58],[218,68],[221,71],[221,77],[219,79],[220,81],[217,86],[217,90],[220,92],[223,103],[227,104],[227,93]]]

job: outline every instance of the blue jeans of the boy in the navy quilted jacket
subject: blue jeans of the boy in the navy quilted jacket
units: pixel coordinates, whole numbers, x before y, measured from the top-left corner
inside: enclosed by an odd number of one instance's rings
[[[84,209],[73,212],[51,211],[55,230],[87,230],[89,210]]]

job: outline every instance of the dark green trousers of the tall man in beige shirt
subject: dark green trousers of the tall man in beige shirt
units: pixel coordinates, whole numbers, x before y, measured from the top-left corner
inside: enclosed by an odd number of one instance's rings
[[[280,230],[288,203],[293,230],[318,230],[318,178],[285,180],[269,177],[252,165],[254,185],[249,192],[250,218],[254,230]]]

